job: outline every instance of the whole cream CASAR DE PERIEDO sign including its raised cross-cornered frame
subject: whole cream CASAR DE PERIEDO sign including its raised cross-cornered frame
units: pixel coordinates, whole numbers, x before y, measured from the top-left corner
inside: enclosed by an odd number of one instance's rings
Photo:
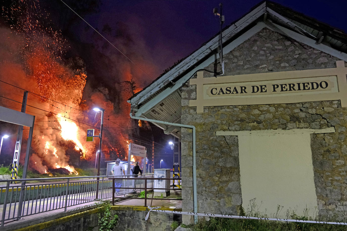
[[[347,67],[336,61],[336,68],[264,72],[241,75],[204,76],[198,71],[189,85],[196,85],[196,99],[189,107],[204,113],[204,107],[291,104],[340,100],[347,107]],[[206,108],[207,109],[207,108]]]

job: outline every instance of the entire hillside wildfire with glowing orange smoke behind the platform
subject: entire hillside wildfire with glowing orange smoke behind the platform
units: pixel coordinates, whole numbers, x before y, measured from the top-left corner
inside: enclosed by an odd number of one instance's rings
[[[48,14],[40,11],[39,2],[18,0],[3,7],[2,16],[10,27],[0,27],[0,104],[20,110],[23,92],[29,91],[26,112],[35,116],[29,168],[41,174],[61,168],[77,174],[75,167],[81,161],[93,162],[99,139],[86,142],[86,131],[94,128],[98,135],[101,121],[101,113],[91,110],[93,106],[105,109],[104,158],[126,159],[129,130],[119,127],[132,127],[137,121],[117,120],[128,117],[129,107],[115,112],[107,89],[93,92],[88,102],[82,100],[87,79],[83,60],[64,58],[68,42],[48,26]],[[125,103],[136,88],[131,79],[118,85],[125,92]],[[23,137],[27,136],[24,130]]]

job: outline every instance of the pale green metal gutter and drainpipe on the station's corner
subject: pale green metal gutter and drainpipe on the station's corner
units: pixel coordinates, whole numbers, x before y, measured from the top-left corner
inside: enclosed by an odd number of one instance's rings
[[[166,124],[166,125],[172,125],[177,127],[186,127],[193,129],[193,205],[194,205],[194,213],[197,213],[197,195],[196,195],[196,152],[195,152],[195,126],[193,125],[187,125],[187,124],[176,124],[171,122],[165,122],[165,121],[159,121],[155,119],[147,119],[142,117],[133,116],[132,113],[130,113],[130,118],[133,119],[139,119],[143,121],[158,123],[158,124]],[[197,222],[197,215],[194,215],[194,223]]]

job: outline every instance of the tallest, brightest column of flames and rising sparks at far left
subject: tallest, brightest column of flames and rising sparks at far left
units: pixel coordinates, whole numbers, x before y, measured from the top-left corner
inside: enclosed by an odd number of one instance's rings
[[[82,142],[85,131],[78,124],[78,120],[85,117],[79,109],[87,78],[84,63],[79,58],[64,58],[67,40],[52,28],[39,1],[12,1],[2,7],[2,16],[10,25],[4,33],[15,32],[22,41],[17,44],[22,47],[18,59],[11,61],[21,64],[24,70],[21,76],[13,76],[9,71],[2,76],[10,82],[13,78],[13,82],[33,92],[29,100],[36,100],[31,103],[36,107],[32,106],[31,112],[36,116],[35,126],[42,127],[34,132],[29,167],[40,173],[58,168],[75,172],[66,155],[69,142],[75,144],[75,150],[82,158],[88,158],[94,151],[91,144]],[[11,43],[11,37],[8,38]],[[6,57],[3,59],[9,61]],[[0,90],[3,94],[11,94],[4,87]],[[9,102],[3,100],[3,103]],[[21,159],[24,159],[23,149]]]

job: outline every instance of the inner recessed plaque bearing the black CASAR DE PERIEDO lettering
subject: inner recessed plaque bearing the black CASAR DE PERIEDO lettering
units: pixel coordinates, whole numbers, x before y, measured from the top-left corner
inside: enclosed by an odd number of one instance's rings
[[[288,80],[287,80],[288,81]],[[334,83],[328,79],[318,81],[296,81],[296,82],[275,82],[259,83],[249,82],[240,83],[222,83],[205,85],[205,92],[210,97],[215,96],[232,96],[232,95],[269,95],[269,94],[283,94],[283,93],[299,93],[307,91],[326,91],[334,87]]]

